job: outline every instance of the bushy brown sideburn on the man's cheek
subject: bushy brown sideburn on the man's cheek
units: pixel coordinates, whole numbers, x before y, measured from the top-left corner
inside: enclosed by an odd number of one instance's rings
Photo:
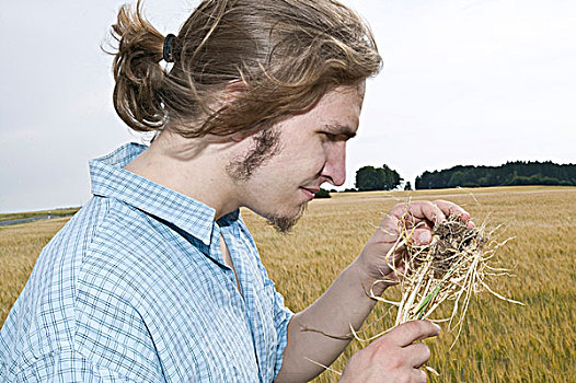
[[[226,171],[235,181],[245,182],[250,179],[256,169],[278,153],[280,149],[279,138],[279,132],[274,128],[255,134],[252,138],[254,149],[245,158],[231,161],[226,166]]]

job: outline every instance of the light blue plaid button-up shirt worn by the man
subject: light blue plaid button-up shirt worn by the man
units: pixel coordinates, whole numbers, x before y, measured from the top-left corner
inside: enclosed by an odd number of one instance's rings
[[[122,169],[145,149],[90,162],[94,197],[43,249],[0,332],[1,382],[277,375],[292,313],[239,211],[215,221],[206,205]]]

